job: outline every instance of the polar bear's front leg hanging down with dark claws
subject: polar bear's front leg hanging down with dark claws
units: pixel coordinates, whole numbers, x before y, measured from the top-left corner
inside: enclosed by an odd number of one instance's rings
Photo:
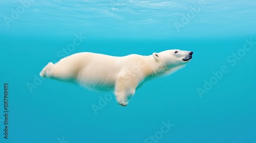
[[[118,76],[115,84],[115,96],[119,105],[125,107],[134,96],[137,85],[125,76]]]

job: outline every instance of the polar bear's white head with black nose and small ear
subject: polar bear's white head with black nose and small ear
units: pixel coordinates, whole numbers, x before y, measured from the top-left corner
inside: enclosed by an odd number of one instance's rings
[[[153,53],[155,61],[159,65],[158,76],[167,76],[184,67],[191,59],[193,52],[181,50],[166,50]]]

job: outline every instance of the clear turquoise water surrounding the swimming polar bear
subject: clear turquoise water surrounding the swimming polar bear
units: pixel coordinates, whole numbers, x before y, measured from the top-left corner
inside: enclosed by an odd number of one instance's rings
[[[256,142],[255,7],[252,0],[1,1],[0,142]],[[111,92],[39,78],[48,62],[78,52],[168,49],[194,57],[147,82],[127,107]]]

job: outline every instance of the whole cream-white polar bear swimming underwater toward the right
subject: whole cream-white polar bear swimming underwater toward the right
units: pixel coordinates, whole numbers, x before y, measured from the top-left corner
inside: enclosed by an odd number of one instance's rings
[[[55,64],[48,63],[40,76],[75,83],[91,90],[114,91],[119,105],[127,106],[135,90],[146,81],[174,73],[184,67],[192,55],[193,52],[181,50],[123,57],[82,52]]]

